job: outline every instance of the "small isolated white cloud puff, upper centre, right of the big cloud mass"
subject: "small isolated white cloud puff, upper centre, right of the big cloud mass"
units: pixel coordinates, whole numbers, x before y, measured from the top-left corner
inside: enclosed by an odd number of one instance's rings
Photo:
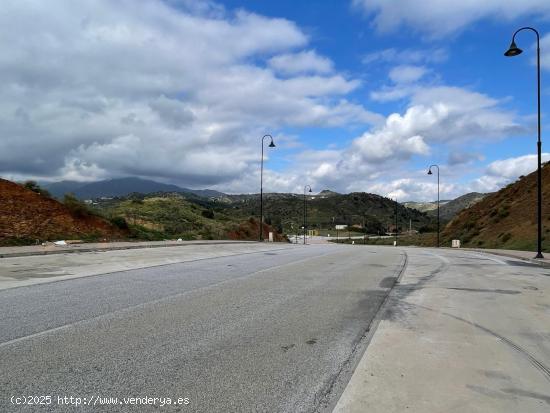
[[[287,53],[269,59],[269,65],[283,74],[297,73],[331,73],[334,70],[332,60],[319,56],[315,51]]]

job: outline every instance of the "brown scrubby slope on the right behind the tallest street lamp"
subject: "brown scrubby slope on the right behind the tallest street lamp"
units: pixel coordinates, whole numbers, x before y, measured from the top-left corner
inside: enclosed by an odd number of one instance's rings
[[[543,247],[550,232],[550,166],[542,169]],[[535,251],[537,239],[537,176],[533,172],[463,210],[444,229],[450,245],[460,239],[465,246]],[[545,248],[548,251],[548,246]]]

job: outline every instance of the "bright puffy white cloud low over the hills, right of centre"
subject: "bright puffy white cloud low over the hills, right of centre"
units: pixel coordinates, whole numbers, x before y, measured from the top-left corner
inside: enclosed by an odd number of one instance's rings
[[[525,129],[516,121],[516,115],[503,110],[498,100],[487,95],[449,86],[418,88],[403,113],[390,114],[342,149],[304,152],[293,159],[300,170],[278,173],[276,182],[280,190],[297,190],[295,182],[308,182],[316,188],[370,190],[400,200],[434,199],[433,191],[426,189],[431,188],[426,171],[407,171],[404,168],[408,160],[425,158],[436,146],[438,150],[451,147],[449,164],[465,165],[482,157],[457,148],[473,140],[488,142],[521,132]],[[299,175],[297,179],[295,174]],[[416,178],[404,180],[399,177],[403,175]],[[428,186],[414,186],[417,181],[428,182]],[[442,195],[456,197],[472,190],[467,185],[446,183]]]

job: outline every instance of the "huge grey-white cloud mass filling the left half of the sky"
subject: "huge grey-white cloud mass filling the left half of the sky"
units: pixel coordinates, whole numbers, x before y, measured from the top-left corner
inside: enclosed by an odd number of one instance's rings
[[[0,42],[4,174],[223,186],[266,132],[381,120],[295,23],[210,1],[8,2]]]

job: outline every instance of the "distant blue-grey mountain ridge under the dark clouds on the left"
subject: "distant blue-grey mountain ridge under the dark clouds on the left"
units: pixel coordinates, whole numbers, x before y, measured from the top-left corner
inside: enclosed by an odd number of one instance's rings
[[[109,179],[97,182],[61,181],[42,185],[54,197],[62,198],[72,193],[79,199],[97,199],[102,197],[122,197],[131,193],[151,194],[157,192],[181,192],[200,197],[224,195],[211,189],[189,189],[176,185],[163,184],[149,179],[135,177]]]

